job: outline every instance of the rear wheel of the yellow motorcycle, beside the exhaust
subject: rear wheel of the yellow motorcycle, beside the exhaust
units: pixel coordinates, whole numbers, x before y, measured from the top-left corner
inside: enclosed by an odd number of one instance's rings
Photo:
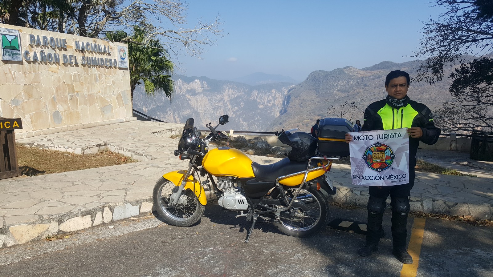
[[[289,201],[291,201],[297,189],[286,189]],[[274,189],[270,196],[273,199],[280,200],[277,189]],[[282,233],[293,237],[308,237],[327,226],[329,222],[329,202],[322,192],[308,187],[302,189],[296,198],[298,202],[303,202],[310,210],[301,211],[298,209],[297,212],[302,214],[302,217],[287,212],[281,213],[281,222],[276,222],[275,224]]]

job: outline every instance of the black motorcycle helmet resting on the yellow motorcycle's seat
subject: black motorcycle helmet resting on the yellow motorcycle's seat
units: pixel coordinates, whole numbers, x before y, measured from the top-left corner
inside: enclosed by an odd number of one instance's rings
[[[317,150],[317,138],[312,135],[300,132],[300,129],[291,129],[279,134],[282,143],[291,146],[291,151],[287,157],[291,161],[302,162],[315,156]]]

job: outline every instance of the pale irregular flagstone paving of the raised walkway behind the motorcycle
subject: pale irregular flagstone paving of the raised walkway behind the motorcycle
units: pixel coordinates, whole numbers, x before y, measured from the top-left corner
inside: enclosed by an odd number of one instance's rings
[[[0,248],[150,212],[156,180],[187,167],[187,161],[173,155],[181,128],[181,124],[131,121],[18,139],[30,147],[70,153],[92,154],[108,148],[141,162],[0,180]],[[492,164],[466,167],[463,153],[429,151],[420,149],[418,155],[462,167],[465,173],[473,169],[478,177],[417,173],[412,210],[492,218],[493,176],[486,168]],[[250,158],[264,164],[280,160]],[[368,188],[351,184],[349,165],[335,164],[329,174],[337,187],[332,201],[366,206]]]

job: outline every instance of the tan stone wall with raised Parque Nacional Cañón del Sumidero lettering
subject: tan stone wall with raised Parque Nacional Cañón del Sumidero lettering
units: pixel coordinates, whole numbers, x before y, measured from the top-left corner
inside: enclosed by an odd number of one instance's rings
[[[5,24],[0,28],[20,33],[22,59],[0,60],[0,117],[22,119],[16,138],[135,120],[128,58],[127,68],[119,67],[126,44]]]

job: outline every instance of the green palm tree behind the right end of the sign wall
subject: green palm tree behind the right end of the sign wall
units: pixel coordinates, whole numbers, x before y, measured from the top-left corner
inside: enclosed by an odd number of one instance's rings
[[[130,36],[124,31],[106,32],[108,40],[128,45],[131,99],[134,99],[134,90],[138,84],[144,85],[147,95],[162,92],[171,99],[174,91],[171,74],[175,65],[168,59],[168,53],[161,43],[147,39],[145,35],[139,27],[134,27]]]

